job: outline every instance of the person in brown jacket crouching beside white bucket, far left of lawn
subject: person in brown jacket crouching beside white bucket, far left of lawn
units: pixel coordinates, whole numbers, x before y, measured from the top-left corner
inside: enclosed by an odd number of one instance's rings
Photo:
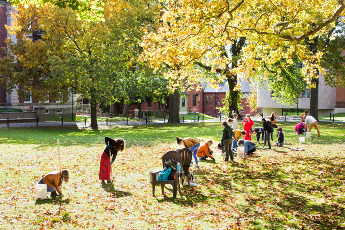
[[[62,181],[68,183],[68,170],[62,169],[60,171],[52,171],[46,175],[42,176],[42,179],[38,182],[39,184],[47,184],[47,192],[50,192],[51,197],[56,197],[56,191],[58,191],[59,196],[63,197],[60,190]]]

